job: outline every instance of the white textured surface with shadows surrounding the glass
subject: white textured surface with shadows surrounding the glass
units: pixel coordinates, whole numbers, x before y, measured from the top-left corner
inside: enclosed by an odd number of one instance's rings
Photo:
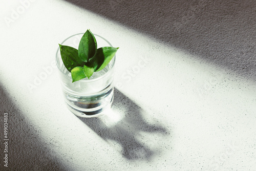
[[[256,170],[256,1],[0,2],[0,170]],[[87,29],[120,47],[94,119],[68,111],[52,65]]]

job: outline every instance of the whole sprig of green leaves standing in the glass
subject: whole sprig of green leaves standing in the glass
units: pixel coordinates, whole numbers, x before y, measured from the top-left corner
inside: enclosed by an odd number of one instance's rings
[[[97,49],[97,41],[90,30],[83,34],[78,50],[59,44],[61,59],[69,72],[72,82],[90,77],[94,72],[105,68],[119,48],[102,47]]]

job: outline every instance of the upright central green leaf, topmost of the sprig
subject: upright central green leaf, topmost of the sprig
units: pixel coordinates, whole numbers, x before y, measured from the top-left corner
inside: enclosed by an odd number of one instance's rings
[[[89,61],[92,58],[97,50],[97,42],[90,30],[87,30],[83,34],[79,46],[78,46],[78,56],[82,61]]]

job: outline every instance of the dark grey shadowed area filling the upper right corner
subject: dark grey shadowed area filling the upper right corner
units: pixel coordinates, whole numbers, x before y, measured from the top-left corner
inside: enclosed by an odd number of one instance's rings
[[[65,1],[256,81],[254,0]]]

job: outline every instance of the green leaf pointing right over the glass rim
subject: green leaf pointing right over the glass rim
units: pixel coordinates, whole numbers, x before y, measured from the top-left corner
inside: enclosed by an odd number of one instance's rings
[[[111,59],[115,56],[119,48],[102,47],[97,49],[95,55],[90,60],[93,64],[94,72],[100,71],[109,64]]]

